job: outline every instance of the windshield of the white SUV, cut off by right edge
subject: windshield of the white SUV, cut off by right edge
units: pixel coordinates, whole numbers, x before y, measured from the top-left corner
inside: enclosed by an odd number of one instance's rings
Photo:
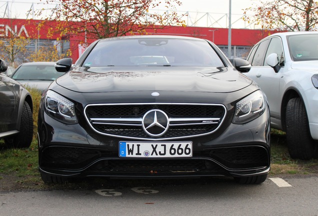
[[[294,61],[318,60],[318,34],[289,35],[287,41]]]

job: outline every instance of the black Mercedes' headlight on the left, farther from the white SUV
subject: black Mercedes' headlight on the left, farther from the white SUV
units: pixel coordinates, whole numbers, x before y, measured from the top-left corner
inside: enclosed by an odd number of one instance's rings
[[[48,90],[45,95],[45,112],[52,118],[63,123],[77,123],[74,103],[60,94]]]

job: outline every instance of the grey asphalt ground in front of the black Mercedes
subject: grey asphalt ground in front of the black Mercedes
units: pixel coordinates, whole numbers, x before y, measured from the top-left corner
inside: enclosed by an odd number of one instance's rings
[[[110,180],[88,190],[2,191],[0,215],[317,215],[317,180]]]

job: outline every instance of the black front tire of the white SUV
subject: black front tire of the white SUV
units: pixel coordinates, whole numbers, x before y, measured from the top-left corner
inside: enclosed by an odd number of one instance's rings
[[[301,98],[291,98],[286,106],[286,140],[291,158],[308,160],[317,144],[311,138],[305,106]]]

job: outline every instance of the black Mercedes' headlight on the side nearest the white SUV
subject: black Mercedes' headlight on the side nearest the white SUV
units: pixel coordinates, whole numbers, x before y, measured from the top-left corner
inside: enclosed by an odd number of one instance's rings
[[[263,93],[257,90],[236,103],[232,122],[236,124],[247,123],[261,115],[264,110]]]

